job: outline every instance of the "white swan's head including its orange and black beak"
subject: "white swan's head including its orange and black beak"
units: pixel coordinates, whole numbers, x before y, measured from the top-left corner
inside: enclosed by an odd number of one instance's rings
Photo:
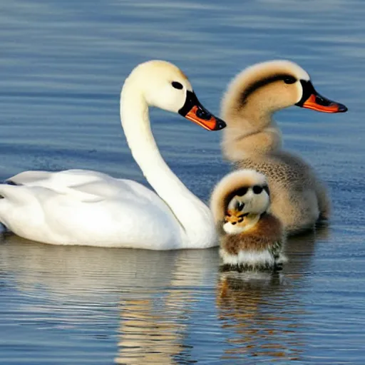
[[[202,106],[187,76],[173,63],[157,60],[140,63],[130,73],[127,83],[139,88],[149,106],[179,113],[207,130],[226,126]]]

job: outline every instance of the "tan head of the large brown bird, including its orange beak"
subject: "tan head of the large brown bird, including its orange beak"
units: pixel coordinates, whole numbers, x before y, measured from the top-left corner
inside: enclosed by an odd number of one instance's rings
[[[225,118],[251,106],[263,113],[274,113],[289,106],[300,106],[324,113],[343,113],[346,106],[321,96],[314,89],[307,71],[285,60],[257,63],[246,68],[230,83],[222,101]]]

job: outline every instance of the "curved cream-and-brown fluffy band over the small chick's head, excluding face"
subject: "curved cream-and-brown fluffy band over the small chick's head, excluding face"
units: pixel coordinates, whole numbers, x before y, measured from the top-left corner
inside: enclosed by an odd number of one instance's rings
[[[236,170],[225,175],[225,177],[215,185],[210,197],[210,210],[212,210],[215,224],[224,220],[227,206],[230,203],[230,200],[232,200],[232,197],[237,195],[237,190],[240,190],[242,187],[264,185],[266,183],[266,177],[262,173],[257,173],[255,170]]]

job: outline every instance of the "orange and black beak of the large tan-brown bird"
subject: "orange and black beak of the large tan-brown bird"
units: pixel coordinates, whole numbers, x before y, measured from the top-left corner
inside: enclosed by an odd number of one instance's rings
[[[347,111],[344,104],[331,101],[317,93],[310,81],[300,81],[303,88],[302,99],[295,105],[302,108],[322,111],[323,113],[344,113]]]

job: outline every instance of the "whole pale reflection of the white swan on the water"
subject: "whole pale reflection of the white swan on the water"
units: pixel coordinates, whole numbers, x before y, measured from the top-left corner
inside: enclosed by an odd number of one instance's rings
[[[28,298],[13,308],[15,321],[26,317],[32,327],[68,336],[88,328],[90,336],[77,345],[85,351],[92,337],[118,331],[117,364],[190,364],[185,336],[195,291],[211,282],[217,258],[215,249],[61,247],[9,236],[1,245],[0,276]]]

